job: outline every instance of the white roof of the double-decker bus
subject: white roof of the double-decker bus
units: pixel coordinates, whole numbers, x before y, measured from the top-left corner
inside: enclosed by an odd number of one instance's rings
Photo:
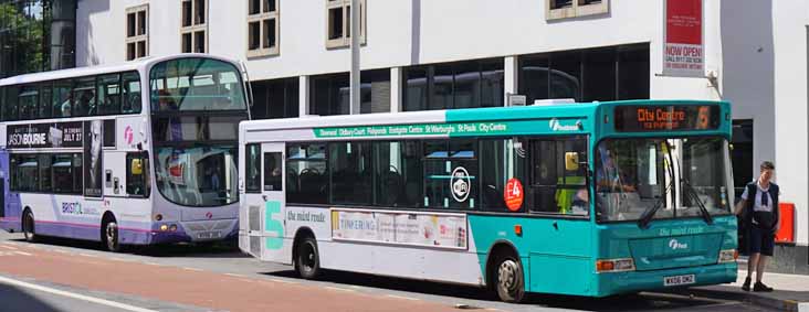
[[[234,61],[232,61],[232,60],[213,56],[213,55],[209,55],[209,54],[200,54],[200,53],[183,53],[183,54],[175,54],[175,55],[157,56],[157,57],[148,56],[148,57],[138,58],[138,60],[129,61],[129,62],[125,62],[125,63],[76,67],[76,68],[69,68],[69,69],[60,69],[60,71],[41,72],[41,73],[32,73],[32,74],[12,76],[12,77],[8,77],[4,79],[0,79],[0,87],[10,86],[10,85],[19,85],[19,84],[38,83],[38,82],[59,80],[59,79],[66,79],[66,78],[73,78],[73,77],[93,76],[93,75],[101,75],[101,74],[107,74],[107,73],[143,71],[143,69],[149,68],[151,65],[154,65],[156,63],[160,63],[160,62],[169,61],[169,60],[176,60],[176,58],[187,58],[187,57],[213,58],[213,60],[234,63]]]

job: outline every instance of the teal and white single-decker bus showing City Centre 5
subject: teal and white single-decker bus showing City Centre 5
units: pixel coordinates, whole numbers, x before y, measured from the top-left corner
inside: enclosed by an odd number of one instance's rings
[[[729,104],[245,121],[240,248],[293,265],[606,297],[736,280]]]

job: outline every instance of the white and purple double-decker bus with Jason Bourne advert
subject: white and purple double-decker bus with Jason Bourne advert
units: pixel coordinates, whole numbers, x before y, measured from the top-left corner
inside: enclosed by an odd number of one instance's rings
[[[0,80],[0,226],[112,251],[235,238],[242,68],[180,54]]]

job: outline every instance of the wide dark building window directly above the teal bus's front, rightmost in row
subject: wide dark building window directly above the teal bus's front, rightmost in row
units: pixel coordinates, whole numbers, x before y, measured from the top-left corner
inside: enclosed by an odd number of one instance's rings
[[[649,44],[519,57],[519,94],[537,99],[607,101],[649,98]]]

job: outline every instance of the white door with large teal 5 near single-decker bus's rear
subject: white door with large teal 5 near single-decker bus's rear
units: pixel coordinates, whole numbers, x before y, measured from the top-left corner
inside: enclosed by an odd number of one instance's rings
[[[284,143],[263,143],[261,146],[261,191],[259,201],[250,201],[250,222],[260,223],[261,227],[250,225],[251,245],[253,236],[261,238],[261,258],[264,260],[292,263],[291,246],[284,244],[285,206],[284,193]],[[255,218],[252,211],[260,204],[260,216]],[[251,246],[251,249],[253,247]]]

